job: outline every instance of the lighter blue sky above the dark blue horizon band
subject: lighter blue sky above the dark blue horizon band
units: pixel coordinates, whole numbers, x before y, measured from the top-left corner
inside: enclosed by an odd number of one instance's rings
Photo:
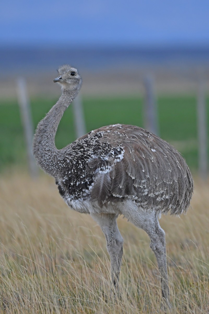
[[[7,0],[0,45],[209,45],[208,16],[208,0]]]

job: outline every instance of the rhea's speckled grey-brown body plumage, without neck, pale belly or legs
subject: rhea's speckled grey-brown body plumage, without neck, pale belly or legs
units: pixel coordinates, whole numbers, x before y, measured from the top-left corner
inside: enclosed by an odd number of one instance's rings
[[[65,200],[99,206],[130,199],[145,210],[181,214],[189,206],[193,181],[185,160],[154,134],[131,125],[92,131],[66,148],[57,178]]]

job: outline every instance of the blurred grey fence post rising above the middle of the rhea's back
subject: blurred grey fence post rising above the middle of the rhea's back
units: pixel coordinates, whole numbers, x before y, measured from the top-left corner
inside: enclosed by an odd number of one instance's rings
[[[145,129],[159,135],[157,118],[157,101],[154,90],[154,78],[146,75],[144,78],[145,100],[144,100],[144,123]]]

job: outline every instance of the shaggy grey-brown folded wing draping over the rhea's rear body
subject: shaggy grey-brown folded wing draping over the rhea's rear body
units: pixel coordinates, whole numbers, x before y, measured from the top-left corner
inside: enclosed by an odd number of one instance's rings
[[[148,210],[179,214],[187,209],[193,181],[186,162],[167,142],[139,127],[116,125],[99,134],[92,200],[100,206],[131,199]],[[94,160],[94,162],[93,162]]]

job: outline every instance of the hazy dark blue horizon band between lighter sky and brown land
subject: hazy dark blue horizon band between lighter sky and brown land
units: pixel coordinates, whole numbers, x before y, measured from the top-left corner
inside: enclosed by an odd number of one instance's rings
[[[62,63],[79,69],[101,71],[110,68],[141,68],[147,65],[207,66],[209,47],[199,48],[71,48],[9,47],[0,48],[0,72],[23,73],[54,70]],[[128,69],[127,69],[128,68]]]

